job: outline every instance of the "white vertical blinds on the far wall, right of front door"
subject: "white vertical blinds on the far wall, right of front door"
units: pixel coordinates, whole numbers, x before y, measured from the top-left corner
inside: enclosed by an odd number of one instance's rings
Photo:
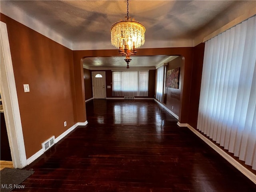
[[[112,71],[112,96],[148,96],[148,70]]]

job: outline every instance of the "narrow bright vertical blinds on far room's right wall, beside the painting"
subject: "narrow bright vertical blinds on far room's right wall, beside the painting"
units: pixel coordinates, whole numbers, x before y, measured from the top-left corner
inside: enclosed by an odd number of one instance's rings
[[[164,66],[156,69],[156,99],[163,102],[164,93]]]

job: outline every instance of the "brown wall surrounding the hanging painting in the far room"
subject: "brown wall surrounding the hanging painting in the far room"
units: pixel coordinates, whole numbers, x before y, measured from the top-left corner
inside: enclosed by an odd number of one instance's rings
[[[180,68],[180,80],[179,80],[179,88],[169,88],[166,87],[166,107],[171,110],[174,114],[177,116],[180,116],[180,93],[181,93],[181,87],[183,83],[184,78],[184,63],[182,60],[182,57],[177,57],[174,60],[171,60],[168,62],[168,65],[166,67],[166,75],[167,71],[175,68]],[[173,107],[173,109],[172,109]]]

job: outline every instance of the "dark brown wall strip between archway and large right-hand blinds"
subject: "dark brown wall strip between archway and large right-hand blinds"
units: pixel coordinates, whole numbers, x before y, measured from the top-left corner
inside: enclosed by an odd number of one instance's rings
[[[189,106],[189,118],[188,124],[193,128],[197,126],[198,106],[202,79],[202,69],[204,61],[204,43],[201,43],[194,47],[193,58],[193,71],[191,78],[191,90],[190,90],[190,106]]]

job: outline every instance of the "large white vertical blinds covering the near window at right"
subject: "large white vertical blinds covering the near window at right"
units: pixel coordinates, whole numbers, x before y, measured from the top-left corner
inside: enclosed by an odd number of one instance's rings
[[[256,16],[205,44],[198,130],[256,170]]]

